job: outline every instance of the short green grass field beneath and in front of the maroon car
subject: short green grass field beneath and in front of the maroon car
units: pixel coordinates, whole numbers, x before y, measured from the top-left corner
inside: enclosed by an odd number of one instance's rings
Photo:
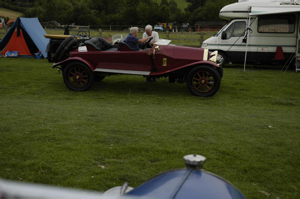
[[[100,191],[124,181],[135,187],[197,153],[207,157],[205,170],[248,198],[300,196],[294,70],[226,67],[208,98],[185,83],[134,75],[75,92],[44,59],[0,58],[0,73],[1,178]]]

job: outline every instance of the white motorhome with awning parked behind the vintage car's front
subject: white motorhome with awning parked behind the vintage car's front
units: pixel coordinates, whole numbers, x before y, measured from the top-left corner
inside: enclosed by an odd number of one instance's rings
[[[230,21],[204,40],[202,47],[218,50],[224,63],[263,63],[300,57],[296,50],[300,42],[300,4],[274,1],[243,1],[224,6],[219,16]]]

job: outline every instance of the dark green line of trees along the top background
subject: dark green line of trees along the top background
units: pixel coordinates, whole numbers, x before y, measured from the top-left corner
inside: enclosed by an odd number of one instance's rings
[[[158,2],[159,1],[159,2]],[[219,10],[236,0],[186,0],[184,9],[175,0],[2,0],[0,7],[38,17],[40,22],[76,25],[145,25],[157,22],[220,21]]]

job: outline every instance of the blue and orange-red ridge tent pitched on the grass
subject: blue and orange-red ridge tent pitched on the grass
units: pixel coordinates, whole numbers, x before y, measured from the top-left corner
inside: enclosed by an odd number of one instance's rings
[[[46,58],[46,46],[49,38],[45,38],[44,34],[47,33],[37,18],[18,17],[0,41],[1,54],[6,51],[23,51],[23,54],[20,53],[20,55],[31,55],[40,50],[40,53]]]

